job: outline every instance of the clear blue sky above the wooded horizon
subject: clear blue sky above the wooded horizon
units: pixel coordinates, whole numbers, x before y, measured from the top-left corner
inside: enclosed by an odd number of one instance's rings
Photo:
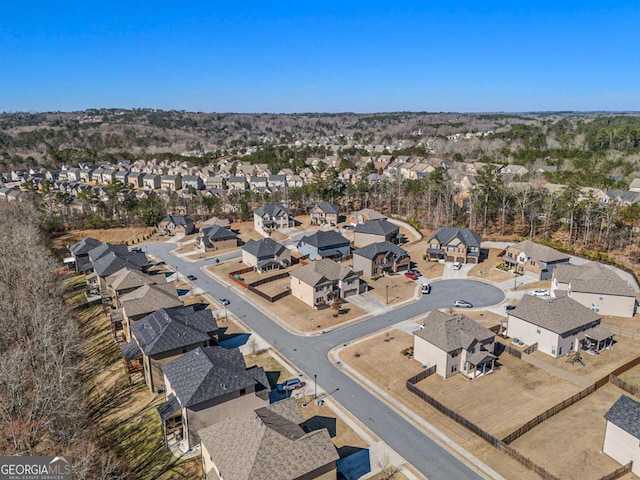
[[[626,0],[9,2],[0,111],[640,110],[638,25]]]

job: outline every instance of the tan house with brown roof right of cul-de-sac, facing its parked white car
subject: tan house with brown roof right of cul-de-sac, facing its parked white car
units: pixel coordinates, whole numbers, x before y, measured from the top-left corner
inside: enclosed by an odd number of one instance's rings
[[[502,263],[518,275],[548,280],[552,277],[554,268],[568,264],[569,258],[566,253],[525,240],[508,246],[502,255]]]

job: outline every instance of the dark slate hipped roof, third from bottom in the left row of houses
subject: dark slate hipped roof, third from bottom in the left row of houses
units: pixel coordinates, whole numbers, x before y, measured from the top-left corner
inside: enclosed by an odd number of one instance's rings
[[[218,324],[211,310],[161,308],[131,325],[133,338],[151,356],[211,340]]]

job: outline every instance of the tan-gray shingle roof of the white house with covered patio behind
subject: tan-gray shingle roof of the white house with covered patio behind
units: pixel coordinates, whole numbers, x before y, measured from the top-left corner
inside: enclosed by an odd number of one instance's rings
[[[570,297],[543,299],[531,295],[525,295],[509,316],[560,335],[599,322],[602,318]]]

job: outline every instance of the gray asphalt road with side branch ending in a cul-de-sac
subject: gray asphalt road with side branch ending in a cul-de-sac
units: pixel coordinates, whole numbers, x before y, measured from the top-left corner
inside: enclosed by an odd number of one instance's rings
[[[231,304],[227,307],[228,310],[241,318],[309,378],[316,375],[318,385],[322,389],[332,395],[429,480],[482,478],[404,417],[342,373],[329,361],[328,352],[335,346],[434,308],[450,307],[459,298],[470,301],[476,307],[494,305],[504,299],[502,291],[487,283],[473,280],[437,281],[432,283],[432,293],[423,296],[417,302],[339,330],[313,337],[301,337],[284,330],[243,296],[237,295],[234,290],[228,289],[200,271],[201,267],[214,262],[211,260],[185,262],[170,253],[174,248],[176,248],[175,244],[156,243],[146,245],[145,251],[177,267],[181,274],[197,276],[198,280],[195,283],[214,298],[229,299]]]

